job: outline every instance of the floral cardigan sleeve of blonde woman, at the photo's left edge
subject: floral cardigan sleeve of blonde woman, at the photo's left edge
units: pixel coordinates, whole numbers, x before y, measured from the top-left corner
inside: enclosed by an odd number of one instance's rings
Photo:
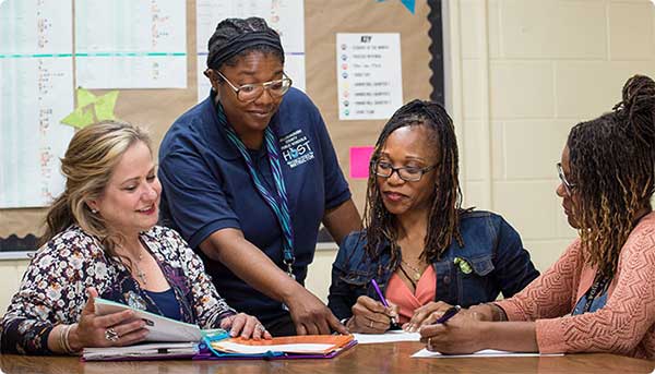
[[[2,353],[52,354],[50,331],[76,323],[86,303],[91,265],[83,253],[75,243],[52,241],[37,252],[2,318]]]

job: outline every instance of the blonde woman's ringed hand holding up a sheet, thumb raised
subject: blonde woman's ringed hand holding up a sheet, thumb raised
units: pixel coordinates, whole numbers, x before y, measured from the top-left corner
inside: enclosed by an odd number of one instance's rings
[[[69,335],[73,350],[79,351],[85,347],[131,346],[145,340],[148,330],[144,328],[143,319],[136,318],[134,312],[96,315],[94,300],[98,297],[98,291],[90,287],[86,292],[88,301],[82,310],[80,321],[71,327]],[[110,340],[108,336],[111,335],[116,338]]]

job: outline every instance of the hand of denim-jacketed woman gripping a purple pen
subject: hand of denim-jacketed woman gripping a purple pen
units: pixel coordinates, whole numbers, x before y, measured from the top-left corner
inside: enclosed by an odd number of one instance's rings
[[[369,297],[357,298],[353,305],[353,316],[348,319],[348,330],[364,334],[384,334],[391,326],[391,318],[397,317],[398,307],[390,304],[384,306],[381,302]]]

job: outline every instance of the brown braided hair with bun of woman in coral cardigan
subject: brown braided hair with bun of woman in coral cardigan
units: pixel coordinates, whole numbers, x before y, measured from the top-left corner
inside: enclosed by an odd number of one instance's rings
[[[611,278],[621,248],[651,210],[655,180],[655,82],[634,75],[614,111],[576,124],[567,145],[576,186],[573,214],[590,265]]]

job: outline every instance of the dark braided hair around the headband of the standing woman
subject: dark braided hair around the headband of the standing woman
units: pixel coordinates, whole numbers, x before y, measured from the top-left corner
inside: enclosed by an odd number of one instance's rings
[[[221,21],[207,43],[207,68],[219,70],[223,65],[235,67],[241,58],[252,52],[272,55],[278,58],[284,64],[284,50],[282,49],[282,46],[278,48],[274,47],[275,43],[272,43],[271,40],[251,43],[245,49],[231,45],[236,39],[253,33],[265,34],[271,39],[276,39],[276,44],[279,44],[279,35],[273,28],[269,27],[266,21],[263,19],[253,16],[249,19],[226,19]],[[227,60],[218,59],[218,62],[215,61],[218,55],[230,48],[238,48],[240,50]]]

